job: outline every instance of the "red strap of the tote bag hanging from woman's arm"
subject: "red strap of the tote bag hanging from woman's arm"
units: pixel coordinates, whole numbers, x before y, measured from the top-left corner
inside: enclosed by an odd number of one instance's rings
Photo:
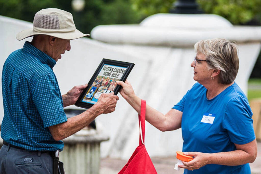
[[[146,101],[141,100],[139,125],[140,125],[140,145],[144,144],[145,138],[145,115],[146,115]]]

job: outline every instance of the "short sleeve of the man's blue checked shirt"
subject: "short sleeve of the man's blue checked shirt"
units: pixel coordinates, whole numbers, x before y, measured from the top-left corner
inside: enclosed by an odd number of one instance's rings
[[[62,96],[54,74],[46,74],[35,82],[32,98],[43,120],[44,127],[67,121],[63,110]]]

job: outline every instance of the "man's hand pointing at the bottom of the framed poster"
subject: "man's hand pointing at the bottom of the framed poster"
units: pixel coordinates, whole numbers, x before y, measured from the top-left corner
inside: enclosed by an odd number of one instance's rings
[[[117,100],[119,100],[119,97],[114,95],[114,92],[110,94],[102,94],[97,103],[94,104],[94,107],[102,114],[108,114],[115,111]]]

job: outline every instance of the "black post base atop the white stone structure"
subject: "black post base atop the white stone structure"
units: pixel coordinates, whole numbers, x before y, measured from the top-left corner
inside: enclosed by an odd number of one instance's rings
[[[203,11],[198,9],[198,4],[195,0],[177,0],[173,3],[173,9],[169,13],[201,14]]]

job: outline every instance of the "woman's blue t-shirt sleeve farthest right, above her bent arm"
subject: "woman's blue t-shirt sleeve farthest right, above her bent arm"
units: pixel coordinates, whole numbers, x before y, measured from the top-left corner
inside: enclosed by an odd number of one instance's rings
[[[256,138],[252,115],[245,98],[237,97],[228,102],[223,118],[223,128],[228,131],[233,143],[247,144]]]

